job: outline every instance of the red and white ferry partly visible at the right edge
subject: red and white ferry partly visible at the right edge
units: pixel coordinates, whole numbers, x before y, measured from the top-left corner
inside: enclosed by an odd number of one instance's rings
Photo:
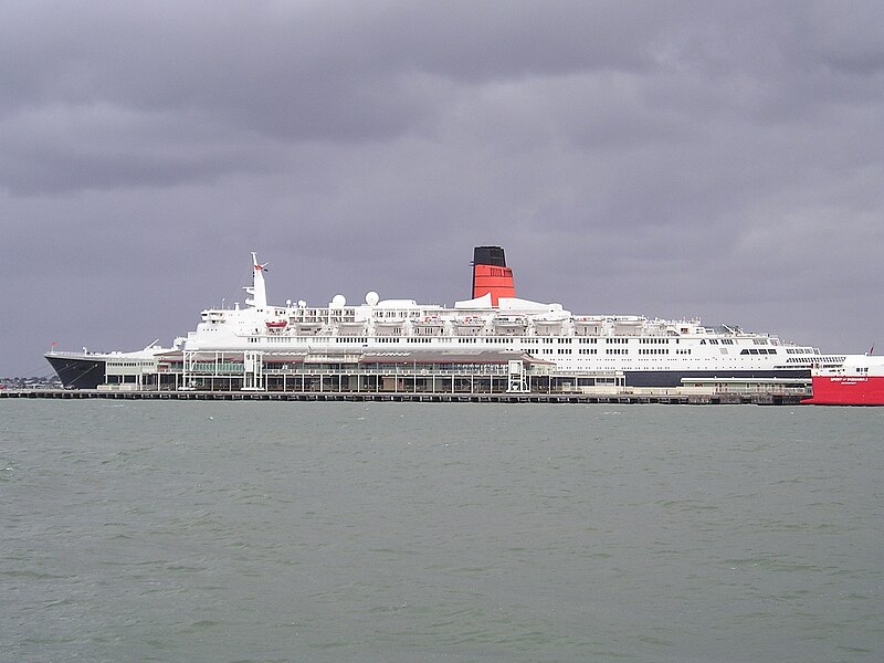
[[[884,356],[848,355],[841,366],[811,369],[812,406],[884,406]]]

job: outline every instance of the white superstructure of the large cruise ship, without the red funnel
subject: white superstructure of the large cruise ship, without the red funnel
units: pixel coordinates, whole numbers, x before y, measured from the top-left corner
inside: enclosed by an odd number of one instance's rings
[[[544,304],[491,293],[452,307],[382,299],[369,292],[348,305],[267,303],[264,265],[252,253],[245,306],[208,308],[183,343],[185,352],[515,351],[554,361],[558,371],[622,371],[631,386],[677,386],[683,377],[809,376],[813,365],[839,365],[810,346],[782,343],[737,327],[705,327],[698,319],[638,315],[575,315]]]

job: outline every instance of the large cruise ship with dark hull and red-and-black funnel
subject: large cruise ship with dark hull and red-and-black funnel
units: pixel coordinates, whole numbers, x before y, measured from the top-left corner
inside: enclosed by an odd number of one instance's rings
[[[272,305],[265,265],[252,253],[252,283],[243,288],[249,295],[244,305],[202,311],[196,329],[171,347],[151,344],[131,352],[53,350],[45,357],[65,386],[93,389],[138,367],[145,372],[170,367],[186,371],[188,361],[200,356],[238,367],[274,357],[286,361],[308,356],[387,357],[409,362],[454,356],[519,357],[543,362],[558,375],[617,375],[629,387],[657,388],[709,378],[809,379],[812,367],[838,368],[846,358],[736,326],[707,327],[699,319],[575,314],[561,304],[523,299],[516,296],[513,271],[501,246],[475,248],[472,269],[470,298],[451,306],[383,299],[375,291],[359,304],[338,294],[325,306],[292,299]],[[260,378],[259,373],[252,375]],[[242,382],[243,388],[248,383]]]

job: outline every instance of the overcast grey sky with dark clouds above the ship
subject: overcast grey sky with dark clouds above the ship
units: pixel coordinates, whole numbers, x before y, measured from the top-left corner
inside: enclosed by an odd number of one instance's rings
[[[0,376],[243,301],[519,296],[884,350],[880,1],[14,1]]]

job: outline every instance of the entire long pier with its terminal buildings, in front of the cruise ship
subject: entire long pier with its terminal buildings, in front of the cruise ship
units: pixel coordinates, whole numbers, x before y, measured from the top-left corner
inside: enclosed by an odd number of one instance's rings
[[[4,398],[487,403],[797,404],[806,379],[685,378],[630,387],[622,371],[564,371],[523,352],[164,354],[108,361],[96,389],[6,390]]]

